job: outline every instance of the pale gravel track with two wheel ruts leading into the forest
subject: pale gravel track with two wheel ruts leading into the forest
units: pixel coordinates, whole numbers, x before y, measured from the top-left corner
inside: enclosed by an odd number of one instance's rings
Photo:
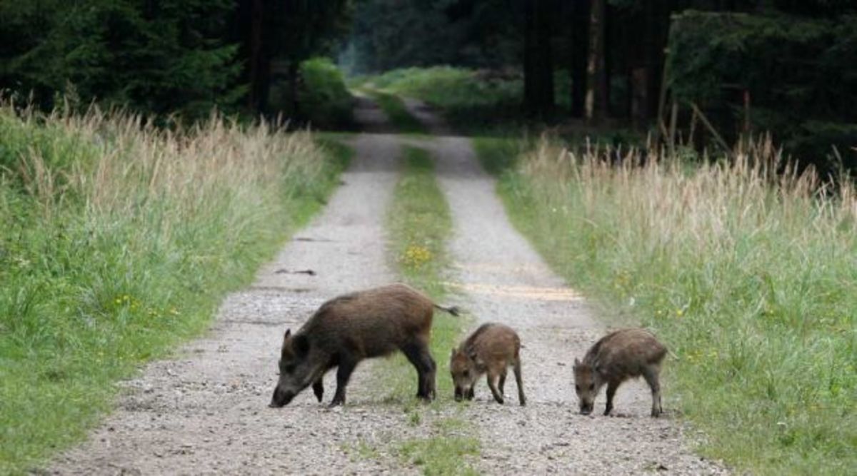
[[[419,110],[419,116],[428,118],[433,130],[445,131],[428,111]],[[367,101],[358,117],[369,118],[372,130],[387,130]],[[383,450],[425,433],[407,425],[401,406],[384,402],[386,393],[374,388],[369,367],[384,360],[358,367],[345,408],[327,410],[310,391],[286,408],[267,408],[285,327],[299,327],[333,295],[395,280],[387,267],[382,223],[403,142],[434,152],[452,209],[450,284],[457,294],[450,300],[479,320],[511,325],[524,342],[528,406],[518,407],[513,381],[506,384],[502,407],[488,402],[488,389],[480,383],[477,402],[457,413],[479,429],[482,458],[476,467],[488,474],[722,472],[692,454],[673,419],[650,419],[644,384],[620,389],[617,417],[576,414],[571,362],[602,327],[512,229],[494,195],[494,181],[476,163],[468,140],[405,140],[391,134],[358,136],[345,184],[321,216],[260,271],[253,286],[225,300],[207,336],[127,383],[117,411],[86,443],[57,458],[50,472],[417,472]],[[296,272],[306,270],[315,274]],[[325,384],[330,394],[333,372]],[[669,411],[668,387],[664,394]],[[603,404],[603,396],[597,403]],[[382,450],[373,459],[357,457],[349,450],[357,442]]]

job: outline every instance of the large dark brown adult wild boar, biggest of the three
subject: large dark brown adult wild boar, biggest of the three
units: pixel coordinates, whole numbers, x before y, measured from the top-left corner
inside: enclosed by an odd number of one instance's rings
[[[405,284],[367,289],[328,300],[300,330],[285,331],[279,359],[279,381],[271,407],[291,402],[313,386],[324,395],[324,374],[338,367],[331,407],[345,403],[345,386],[363,359],[402,351],[417,367],[417,396],[434,398],[435,364],[428,352],[434,308],[458,316],[458,308],[434,304]]]

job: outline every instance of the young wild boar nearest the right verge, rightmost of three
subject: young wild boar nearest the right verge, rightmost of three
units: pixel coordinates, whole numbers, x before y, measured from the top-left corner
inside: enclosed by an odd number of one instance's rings
[[[574,390],[578,394],[580,413],[588,415],[595,397],[607,384],[607,408],[613,410],[613,396],[628,378],[643,376],[651,388],[651,416],[662,413],[661,362],[667,348],[651,332],[643,329],[616,330],[603,336],[584,356],[574,360]]]

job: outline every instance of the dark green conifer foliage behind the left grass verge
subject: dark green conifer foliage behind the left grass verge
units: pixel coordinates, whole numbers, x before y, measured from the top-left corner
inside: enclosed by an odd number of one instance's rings
[[[219,35],[229,0],[44,0],[0,3],[0,85],[33,92],[45,109],[69,98],[191,119],[228,109],[236,86],[237,47]]]

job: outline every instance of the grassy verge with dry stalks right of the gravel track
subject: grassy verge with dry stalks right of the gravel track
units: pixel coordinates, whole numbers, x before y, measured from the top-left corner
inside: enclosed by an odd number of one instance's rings
[[[507,143],[475,147],[512,163]],[[559,157],[542,145],[501,172],[506,210],[569,283],[677,355],[667,402],[704,431],[700,450],[750,473],[854,473],[853,190],[819,197],[747,164]]]

